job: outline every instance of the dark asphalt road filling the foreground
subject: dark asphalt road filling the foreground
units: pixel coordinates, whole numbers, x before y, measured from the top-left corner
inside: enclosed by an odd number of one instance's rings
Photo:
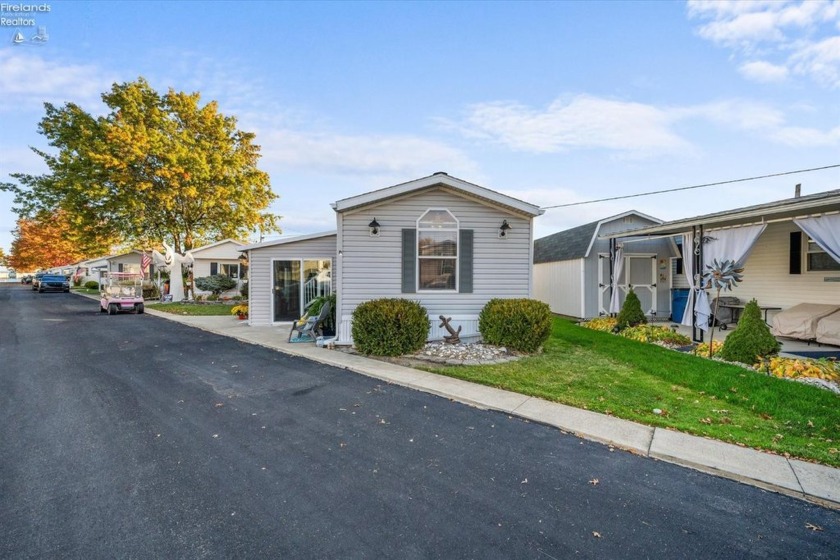
[[[840,556],[837,512],[20,285],[0,527],[15,559]]]

